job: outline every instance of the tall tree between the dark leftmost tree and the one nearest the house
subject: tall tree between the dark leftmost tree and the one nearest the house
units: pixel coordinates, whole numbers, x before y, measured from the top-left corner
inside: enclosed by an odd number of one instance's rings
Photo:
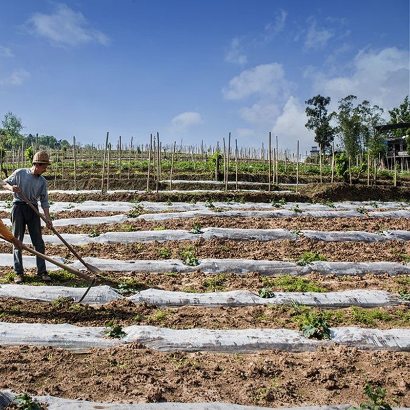
[[[355,158],[361,151],[362,124],[357,108],[353,106],[355,95],[348,95],[338,101],[339,112],[334,113],[340,141],[350,158]]]

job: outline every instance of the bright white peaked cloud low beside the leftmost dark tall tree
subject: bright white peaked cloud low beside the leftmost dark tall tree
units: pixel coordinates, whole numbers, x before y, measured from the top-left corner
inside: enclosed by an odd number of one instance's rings
[[[278,136],[278,143],[282,148],[296,151],[297,140],[300,150],[314,145],[313,135],[305,128],[306,114],[304,106],[291,96],[283,107],[282,113],[277,117],[272,134]]]

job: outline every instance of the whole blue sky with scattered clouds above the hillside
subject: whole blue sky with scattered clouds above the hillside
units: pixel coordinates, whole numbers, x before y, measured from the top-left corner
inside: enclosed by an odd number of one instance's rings
[[[304,101],[409,93],[409,1],[2,0],[0,118],[129,144],[314,144]]]

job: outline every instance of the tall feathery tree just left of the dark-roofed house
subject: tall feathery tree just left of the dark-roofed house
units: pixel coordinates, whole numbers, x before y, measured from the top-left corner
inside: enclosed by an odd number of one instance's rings
[[[370,150],[373,155],[378,155],[385,150],[384,137],[376,129],[383,124],[383,109],[379,106],[370,106],[367,100],[359,104],[356,112],[361,121],[361,135],[363,148]]]

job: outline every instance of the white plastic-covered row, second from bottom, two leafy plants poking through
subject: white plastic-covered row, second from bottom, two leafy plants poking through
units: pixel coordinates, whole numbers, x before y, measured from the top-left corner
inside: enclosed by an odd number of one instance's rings
[[[337,343],[362,350],[410,351],[410,329],[333,327],[330,340],[308,339],[288,329],[175,330],[132,325],[122,329],[126,333],[122,339],[105,337],[105,330],[105,327],[71,324],[0,322],[0,345],[40,345],[84,351],[92,347],[140,343],[160,352],[253,353],[262,350],[307,352]]]

